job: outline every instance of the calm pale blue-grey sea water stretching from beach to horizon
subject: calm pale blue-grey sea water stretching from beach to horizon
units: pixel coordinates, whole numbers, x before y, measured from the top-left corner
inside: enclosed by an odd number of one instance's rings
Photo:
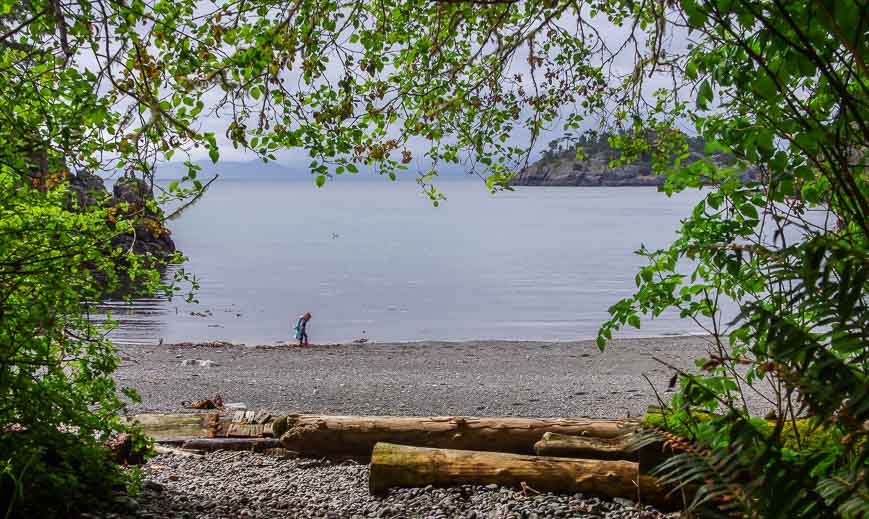
[[[433,207],[412,182],[218,180],[173,237],[198,278],[183,298],[110,303],[117,342],[314,343],[593,338],[635,288],[640,244],[666,245],[699,192],[450,180]],[[699,332],[667,314],[623,336]]]

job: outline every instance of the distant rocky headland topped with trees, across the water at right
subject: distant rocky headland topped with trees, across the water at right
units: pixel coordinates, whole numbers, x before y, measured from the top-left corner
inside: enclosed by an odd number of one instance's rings
[[[575,143],[562,146],[558,141],[550,143],[543,157],[520,171],[512,180],[515,186],[660,186],[665,177],[652,172],[652,160],[648,155],[620,167],[610,167],[619,156],[609,145],[609,135],[597,138],[581,137]],[[689,137],[689,156],[683,162],[690,164],[707,156],[706,142],[699,137]],[[584,157],[577,159],[581,148]],[[716,154],[712,160],[719,164],[733,162],[733,157]],[[754,179],[754,171],[743,173],[743,181]]]

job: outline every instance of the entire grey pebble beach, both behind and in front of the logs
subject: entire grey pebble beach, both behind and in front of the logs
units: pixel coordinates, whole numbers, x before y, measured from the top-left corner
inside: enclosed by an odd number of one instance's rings
[[[124,346],[120,386],[142,401],[130,412],[183,412],[220,395],[273,413],[589,416],[642,414],[668,399],[671,367],[688,368],[703,337],[593,341]],[[143,467],[143,490],[110,512],[157,518],[583,518],[675,517],[642,503],[488,486],[368,492],[368,467],[247,452],[165,453]]]

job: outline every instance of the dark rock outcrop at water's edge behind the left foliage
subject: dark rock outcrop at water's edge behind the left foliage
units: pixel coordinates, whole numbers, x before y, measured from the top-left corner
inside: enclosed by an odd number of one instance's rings
[[[175,252],[172,233],[163,224],[163,212],[154,201],[154,192],[143,180],[123,177],[115,182],[112,196],[103,180],[90,172],[71,175],[70,191],[75,194],[77,207],[102,205],[112,208],[113,218],[127,216],[133,220],[133,233],[118,235],[112,245],[136,254],[152,254],[168,259]]]

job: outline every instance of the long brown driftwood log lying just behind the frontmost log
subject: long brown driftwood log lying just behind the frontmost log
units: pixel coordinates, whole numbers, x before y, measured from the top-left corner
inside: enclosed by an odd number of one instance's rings
[[[544,433],[615,438],[639,422],[587,418],[476,418],[470,416],[290,415],[277,420],[281,442],[301,456],[368,457],[378,442],[533,454]]]

